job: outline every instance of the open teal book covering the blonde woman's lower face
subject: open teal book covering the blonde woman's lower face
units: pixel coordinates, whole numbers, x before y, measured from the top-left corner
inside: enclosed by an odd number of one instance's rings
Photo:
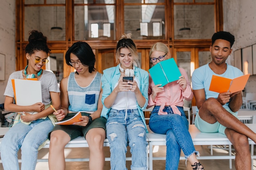
[[[149,69],[149,73],[154,84],[162,84],[162,86],[178,80],[181,76],[180,70],[173,58],[157,63]]]

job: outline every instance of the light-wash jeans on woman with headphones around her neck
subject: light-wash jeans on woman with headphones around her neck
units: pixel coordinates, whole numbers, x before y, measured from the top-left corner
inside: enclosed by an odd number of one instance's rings
[[[31,124],[15,124],[4,135],[0,145],[0,153],[4,170],[19,170],[18,150],[21,148],[21,170],[34,170],[38,147],[47,139],[53,129],[52,121],[37,119]]]

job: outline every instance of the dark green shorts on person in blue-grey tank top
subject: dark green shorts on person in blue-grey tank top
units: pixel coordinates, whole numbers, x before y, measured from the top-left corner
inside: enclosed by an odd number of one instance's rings
[[[63,119],[70,119],[76,113],[68,113],[67,116]],[[82,116],[90,115],[90,113],[81,112]],[[103,128],[106,131],[106,118],[99,117],[94,119],[92,123],[88,124],[87,126],[78,126],[78,125],[56,125],[54,126],[54,130],[63,130],[70,136],[70,140],[73,140],[79,136],[85,137],[86,133],[92,128]],[[48,139],[50,139],[51,132],[48,135]]]

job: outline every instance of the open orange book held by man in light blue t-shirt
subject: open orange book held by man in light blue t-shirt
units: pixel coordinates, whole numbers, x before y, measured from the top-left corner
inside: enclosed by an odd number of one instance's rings
[[[209,91],[214,91],[217,93],[231,92],[236,93],[242,91],[249,79],[250,74],[242,75],[234,79],[229,79],[225,77],[220,77],[213,75],[211,77],[211,84]]]

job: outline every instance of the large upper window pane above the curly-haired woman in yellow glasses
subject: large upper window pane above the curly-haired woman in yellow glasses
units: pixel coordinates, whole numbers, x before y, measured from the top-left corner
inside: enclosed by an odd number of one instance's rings
[[[42,32],[49,41],[65,40],[65,16],[65,6],[25,7],[24,40],[31,30]]]

